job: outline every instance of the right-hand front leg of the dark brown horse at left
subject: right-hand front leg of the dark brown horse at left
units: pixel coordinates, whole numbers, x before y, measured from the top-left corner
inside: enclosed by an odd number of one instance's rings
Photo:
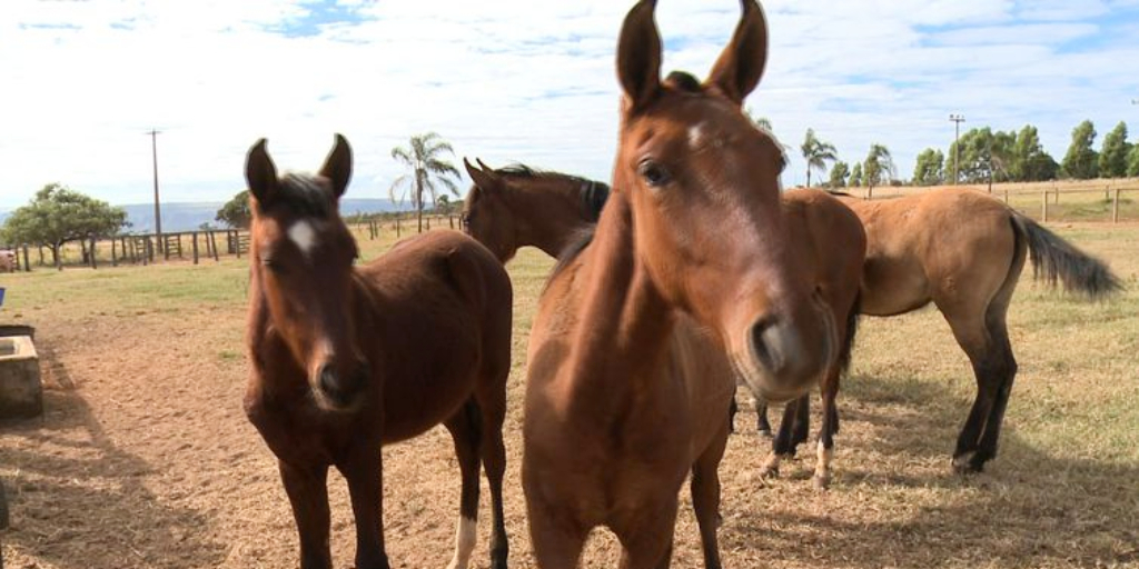
[[[359,444],[337,465],[349,483],[355,517],[355,569],[391,569],[384,550],[384,471],[379,444]]]

